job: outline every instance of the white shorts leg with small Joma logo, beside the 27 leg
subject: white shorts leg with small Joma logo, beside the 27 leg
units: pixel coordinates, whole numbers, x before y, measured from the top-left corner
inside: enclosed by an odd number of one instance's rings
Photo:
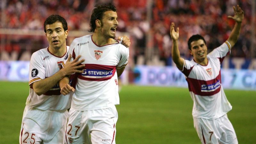
[[[100,112],[103,115],[102,119],[93,123],[91,128],[92,144],[115,144],[116,137],[116,108],[102,109]]]

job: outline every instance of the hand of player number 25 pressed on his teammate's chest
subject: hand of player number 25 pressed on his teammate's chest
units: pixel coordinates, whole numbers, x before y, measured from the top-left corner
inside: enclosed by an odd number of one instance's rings
[[[85,64],[80,65],[82,62],[84,62],[84,59],[79,60],[81,55],[77,56],[75,60],[71,60],[71,54],[68,56],[68,60],[61,70],[65,72],[66,76],[71,75],[73,73],[83,73],[83,70],[79,70],[79,68],[85,67]],[[79,61],[78,61],[79,60]]]

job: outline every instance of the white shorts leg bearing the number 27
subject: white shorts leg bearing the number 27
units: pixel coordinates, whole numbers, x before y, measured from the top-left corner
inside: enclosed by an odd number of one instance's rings
[[[66,143],[91,144],[90,131],[87,125],[87,111],[69,110]]]

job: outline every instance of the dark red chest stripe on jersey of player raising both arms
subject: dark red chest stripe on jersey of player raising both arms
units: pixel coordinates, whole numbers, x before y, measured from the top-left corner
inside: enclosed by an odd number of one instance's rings
[[[188,82],[188,89],[190,92],[193,92],[197,95],[200,96],[212,96],[218,92],[220,92],[220,87],[221,87],[221,75],[219,72],[219,75],[212,79],[212,80],[208,80],[208,81],[204,81],[204,80],[198,80],[198,79],[194,79],[194,78],[190,78],[187,77],[186,78],[187,82]],[[220,83],[220,85],[219,85]],[[202,91],[203,86],[211,86],[212,85],[212,91],[208,90],[208,91]],[[216,86],[216,89],[215,89]]]

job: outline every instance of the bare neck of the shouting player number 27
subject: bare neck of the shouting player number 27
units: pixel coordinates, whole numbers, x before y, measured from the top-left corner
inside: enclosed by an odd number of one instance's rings
[[[108,45],[108,44],[115,44],[117,41],[113,38],[107,38],[99,33],[93,33],[92,41],[97,44],[98,46]]]

